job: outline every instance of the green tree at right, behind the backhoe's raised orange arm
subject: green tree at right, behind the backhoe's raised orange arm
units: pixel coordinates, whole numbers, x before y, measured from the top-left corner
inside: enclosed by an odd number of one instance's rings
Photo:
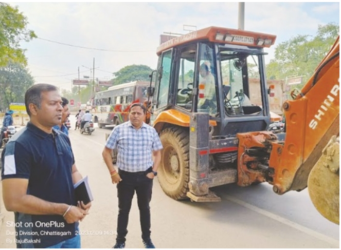
[[[303,76],[303,85],[330,50],[338,31],[339,26],[334,23],[319,25],[314,37],[296,35],[280,43],[275,49],[275,59],[266,66],[267,78],[282,80],[289,76]]]

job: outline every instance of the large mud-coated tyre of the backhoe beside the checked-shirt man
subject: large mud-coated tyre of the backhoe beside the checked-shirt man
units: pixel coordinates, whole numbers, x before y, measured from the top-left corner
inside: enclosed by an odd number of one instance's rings
[[[165,194],[174,200],[187,199],[189,182],[189,133],[183,128],[167,128],[160,133],[164,147],[157,179]]]

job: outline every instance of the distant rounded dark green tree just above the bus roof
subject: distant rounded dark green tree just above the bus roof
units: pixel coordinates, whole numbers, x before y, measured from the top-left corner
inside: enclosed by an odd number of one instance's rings
[[[129,83],[133,81],[150,81],[149,75],[152,69],[146,65],[129,65],[114,72],[116,78],[113,79],[114,85]]]

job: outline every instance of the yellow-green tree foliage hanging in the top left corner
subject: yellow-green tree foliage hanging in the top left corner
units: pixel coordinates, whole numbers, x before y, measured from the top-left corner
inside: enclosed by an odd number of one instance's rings
[[[27,18],[17,7],[0,3],[0,67],[10,61],[27,65],[21,41],[30,41],[37,35],[27,29]]]

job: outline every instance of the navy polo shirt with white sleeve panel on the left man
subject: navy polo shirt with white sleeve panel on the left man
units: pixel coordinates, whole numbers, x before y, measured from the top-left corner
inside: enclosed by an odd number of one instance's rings
[[[69,138],[32,123],[15,133],[2,152],[2,179],[28,179],[27,194],[45,201],[76,205],[71,176],[75,163]],[[18,248],[44,248],[75,237],[76,223],[61,215],[14,213]]]

